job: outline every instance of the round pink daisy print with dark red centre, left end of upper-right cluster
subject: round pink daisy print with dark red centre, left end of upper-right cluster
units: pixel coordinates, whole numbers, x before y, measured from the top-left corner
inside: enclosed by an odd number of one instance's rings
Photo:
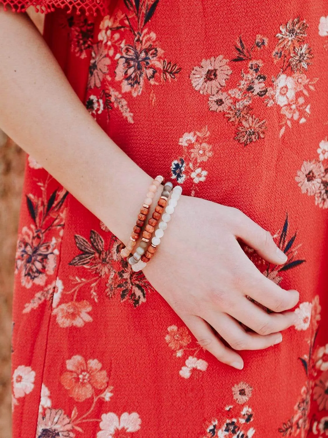
[[[226,85],[232,73],[227,63],[228,60],[223,59],[223,55],[203,59],[200,67],[194,67],[190,74],[192,86],[201,94],[216,94]]]

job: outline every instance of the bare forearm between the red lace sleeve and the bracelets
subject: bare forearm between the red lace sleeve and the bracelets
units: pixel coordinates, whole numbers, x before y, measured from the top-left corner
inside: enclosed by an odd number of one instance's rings
[[[0,41],[1,129],[126,240],[151,178],[90,116],[27,16],[0,10]]]

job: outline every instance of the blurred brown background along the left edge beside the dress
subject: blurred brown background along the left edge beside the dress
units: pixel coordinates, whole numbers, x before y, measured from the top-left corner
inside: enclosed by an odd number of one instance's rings
[[[40,31],[42,14],[28,14]],[[1,102],[0,102],[1,103]],[[4,106],[2,106],[3,108]],[[25,153],[0,131],[0,437],[11,436],[10,337],[14,257]]]

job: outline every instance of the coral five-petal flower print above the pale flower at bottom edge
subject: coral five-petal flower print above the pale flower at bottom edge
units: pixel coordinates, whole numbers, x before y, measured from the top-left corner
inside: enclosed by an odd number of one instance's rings
[[[101,370],[101,363],[97,359],[89,359],[87,363],[82,356],[73,356],[66,360],[65,371],[60,381],[68,390],[70,397],[77,402],[83,402],[92,397],[93,388],[105,389],[108,381],[106,370]]]

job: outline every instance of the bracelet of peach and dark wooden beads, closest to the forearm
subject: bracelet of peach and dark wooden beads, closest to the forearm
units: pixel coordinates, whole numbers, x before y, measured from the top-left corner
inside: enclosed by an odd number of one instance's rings
[[[157,189],[160,186],[160,184],[163,182],[163,180],[164,178],[161,175],[158,175],[150,184],[146,198],[143,201],[142,207],[140,208],[140,213],[138,214],[136,225],[133,227],[133,231],[129,238],[129,242],[126,245],[126,247],[124,247],[121,250],[121,257],[123,258],[128,257],[129,254],[132,252],[134,246],[136,245],[136,241],[139,239],[141,229],[149,213],[149,207],[152,204],[155,193],[157,192]]]

